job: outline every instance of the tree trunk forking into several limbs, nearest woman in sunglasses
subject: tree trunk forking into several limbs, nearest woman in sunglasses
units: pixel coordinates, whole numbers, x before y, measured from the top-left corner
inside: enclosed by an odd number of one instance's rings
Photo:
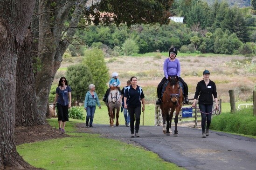
[[[41,13],[41,15],[38,22],[38,51],[42,70],[36,74],[35,89],[40,119],[46,118],[48,96],[55,73],[61,65],[62,56],[69,46],[69,40],[71,40],[75,34],[76,28],[69,28],[65,34],[65,40],[62,39],[64,22],[67,20],[70,10],[76,3],[75,11],[69,23],[70,27],[76,27],[87,0],[73,0],[66,4],[65,2],[66,1],[58,1],[57,7],[59,8],[56,8],[54,12],[50,13],[48,11],[50,11],[51,2],[39,0],[38,13]],[[55,20],[52,21],[52,18]]]

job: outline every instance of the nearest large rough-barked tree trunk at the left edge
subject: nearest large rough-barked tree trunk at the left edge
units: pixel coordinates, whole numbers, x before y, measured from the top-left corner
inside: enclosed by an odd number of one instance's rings
[[[29,169],[14,145],[16,65],[34,0],[0,1],[0,170]]]

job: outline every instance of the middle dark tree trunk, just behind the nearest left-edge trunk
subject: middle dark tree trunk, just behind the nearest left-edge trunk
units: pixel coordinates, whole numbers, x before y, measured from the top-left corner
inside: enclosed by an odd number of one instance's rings
[[[28,29],[17,62],[15,126],[45,124],[37,115],[31,46],[32,35]]]

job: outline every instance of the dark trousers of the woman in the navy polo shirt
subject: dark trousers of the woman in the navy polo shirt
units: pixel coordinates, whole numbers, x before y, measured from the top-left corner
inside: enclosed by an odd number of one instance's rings
[[[130,118],[131,118],[131,124],[130,124],[131,133],[132,134],[134,133],[134,122],[135,122],[135,133],[138,133],[139,123],[140,123],[141,106],[137,106],[137,107],[129,107],[128,106],[128,112],[129,112]]]

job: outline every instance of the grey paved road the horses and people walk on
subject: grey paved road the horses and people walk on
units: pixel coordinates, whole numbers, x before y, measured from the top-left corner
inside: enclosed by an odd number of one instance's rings
[[[173,137],[163,134],[161,126],[140,126],[140,137],[131,138],[130,127],[124,125],[79,126],[85,132],[140,144],[187,170],[256,170],[256,139],[248,137],[210,131],[207,138],[201,138],[201,129],[188,127],[178,127],[180,137]]]

